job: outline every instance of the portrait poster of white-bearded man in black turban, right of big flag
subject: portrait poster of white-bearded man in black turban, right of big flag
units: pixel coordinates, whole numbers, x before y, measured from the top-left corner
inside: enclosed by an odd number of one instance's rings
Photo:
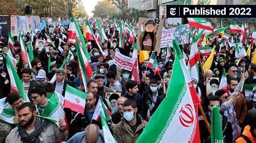
[[[211,93],[214,95],[219,89],[219,78],[218,77],[207,77],[206,78],[206,94],[207,96]]]

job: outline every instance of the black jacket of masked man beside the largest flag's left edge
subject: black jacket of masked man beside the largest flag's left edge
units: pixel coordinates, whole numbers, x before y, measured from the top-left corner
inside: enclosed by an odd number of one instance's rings
[[[158,106],[160,105],[160,103],[164,100],[164,95],[163,93],[159,90],[158,90],[158,97],[157,97],[157,101],[156,101],[156,104],[154,105],[153,109],[152,109],[152,113],[154,113]],[[147,105],[147,101],[149,101],[151,103],[151,105],[153,104],[150,96],[152,97],[153,99],[153,96],[152,96],[152,91],[151,90],[147,90],[146,92],[144,92],[143,96],[142,96],[142,102],[143,102],[143,118],[146,119],[147,117],[147,110],[149,109],[149,105]]]

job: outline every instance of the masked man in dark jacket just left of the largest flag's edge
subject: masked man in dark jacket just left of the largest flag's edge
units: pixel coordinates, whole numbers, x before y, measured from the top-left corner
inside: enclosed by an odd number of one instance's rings
[[[164,100],[163,92],[157,88],[158,81],[153,78],[150,80],[150,90],[144,92],[142,96],[143,101],[143,118],[147,118],[147,113],[151,113],[150,116],[153,115],[154,111],[157,110],[160,103]]]

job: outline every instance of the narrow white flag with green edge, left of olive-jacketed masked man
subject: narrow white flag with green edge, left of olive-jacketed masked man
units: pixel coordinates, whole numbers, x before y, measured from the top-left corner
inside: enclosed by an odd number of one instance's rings
[[[103,116],[102,111],[100,111],[100,120],[102,121],[102,130],[103,130],[103,137],[104,137],[104,142],[109,143],[109,142],[117,142],[116,139],[112,136],[109,126],[107,125],[105,118]]]

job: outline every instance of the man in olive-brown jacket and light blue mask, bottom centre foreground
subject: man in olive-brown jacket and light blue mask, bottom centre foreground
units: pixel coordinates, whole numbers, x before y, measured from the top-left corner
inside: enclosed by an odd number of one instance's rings
[[[113,129],[113,137],[117,142],[136,142],[142,134],[147,122],[137,115],[137,105],[132,99],[123,104],[124,118]]]

